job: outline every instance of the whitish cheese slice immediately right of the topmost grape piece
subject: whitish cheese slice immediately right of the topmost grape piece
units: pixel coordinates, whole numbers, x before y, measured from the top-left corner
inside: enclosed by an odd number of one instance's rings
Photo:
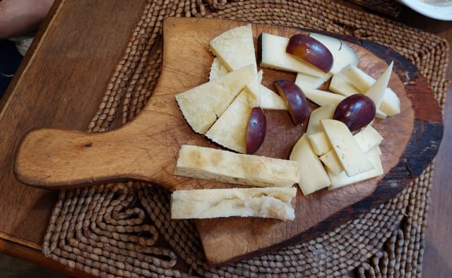
[[[311,33],[309,36],[321,42],[333,55],[333,67],[330,72],[338,73],[347,64],[355,66],[359,63],[359,56],[346,42],[338,40],[335,37],[329,37],[317,33]]]

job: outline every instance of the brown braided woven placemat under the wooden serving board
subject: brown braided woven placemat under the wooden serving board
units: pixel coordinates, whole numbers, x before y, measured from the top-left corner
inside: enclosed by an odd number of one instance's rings
[[[444,103],[448,44],[334,1],[149,0],[124,57],[88,126],[107,131],[133,119],[152,95],[162,59],[162,19],[207,16],[338,32],[395,49],[427,78]],[[43,252],[101,277],[420,277],[433,166],[388,203],[309,242],[210,267],[191,221],[169,218],[169,194],[145,183],[61,191]]]

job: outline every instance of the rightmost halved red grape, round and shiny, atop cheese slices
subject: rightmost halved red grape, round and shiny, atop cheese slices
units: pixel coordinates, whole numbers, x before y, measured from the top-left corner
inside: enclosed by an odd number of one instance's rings
[[[342,121],[350,131],[358,131],[374,120],[376,107],[366,95],[356,94],[345,97],[336,107],[333,119]]]

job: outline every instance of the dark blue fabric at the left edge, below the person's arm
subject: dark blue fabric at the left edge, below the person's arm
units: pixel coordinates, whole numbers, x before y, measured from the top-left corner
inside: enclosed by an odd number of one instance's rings
[[[17,51],[16,45],[9,40],[0,40],[0,97],[13,79],[14,73],[22,61],[22,55]]]

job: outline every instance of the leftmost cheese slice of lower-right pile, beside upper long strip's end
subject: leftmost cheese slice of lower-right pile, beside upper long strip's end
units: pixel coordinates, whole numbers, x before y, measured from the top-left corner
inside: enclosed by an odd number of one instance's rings
[[[299,188],[308,195],[331,184],[319,157],[314,153],[306,133],[297,141],[290,153],[290,160],[298,162]]]

